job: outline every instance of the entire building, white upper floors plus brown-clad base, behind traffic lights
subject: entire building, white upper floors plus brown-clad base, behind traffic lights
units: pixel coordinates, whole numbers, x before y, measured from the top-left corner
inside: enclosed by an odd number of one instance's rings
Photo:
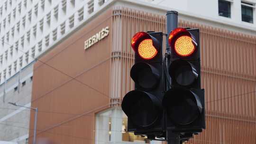
[[[130,38],[165,32],[171,9],[179,11],[179,27],[201,29],[207,129],[192,143],[253,144],[255,0],[1,1],[0,140],[23,144],[33,136],[34,112],[30,118],[30,110],[8,104],[18,102],[38,107],[39,140],[148,143],[125,132],[119,107],[134,88]],[[86,46],[101,31],[104,38]]]

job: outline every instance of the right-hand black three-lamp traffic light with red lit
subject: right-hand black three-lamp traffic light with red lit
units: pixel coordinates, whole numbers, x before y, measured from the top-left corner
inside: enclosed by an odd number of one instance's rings
[[[163,98],[166,131],[198,133],[205,128],[204,90],[201,89],[199,29],[174,29],[171,47],[171,88]]]

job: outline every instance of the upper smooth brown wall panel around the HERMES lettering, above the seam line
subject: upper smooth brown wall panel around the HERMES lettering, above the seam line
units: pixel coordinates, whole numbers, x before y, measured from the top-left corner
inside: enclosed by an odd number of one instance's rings
[[[77,77],[82,72],[87,72],[97,64],[110,60],[111,36],[102,39],[93,45],[93,48],[83,49],[85,40],[101,31],[102,28],[110,25],[110,15],[105,15],[105,17],[104,15],[99,16],[97,20],[86,25],[86,28],[81,28],[81,30],[74,33],[60,45],[56,45],[40,61],[37,61],[34,73],[36,79],[40,79],[38,82],[41,87],[34,88],[37,91],[35,98],[44,95],[46,91],[53,90],[53,88],[70,81],[72,79],[71,77]],[[109,35],[111,35],[111,28]],[[106,45],[106,43],[109,45]],[[37,71],[42,71],[42,73],[40,72],[40,76],[37,76]],[[46,77],[47,79],[45,79]]]

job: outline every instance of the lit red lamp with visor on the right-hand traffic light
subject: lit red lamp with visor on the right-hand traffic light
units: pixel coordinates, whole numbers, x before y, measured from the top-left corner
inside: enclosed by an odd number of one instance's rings
[[[174,52],[181,57],[192,55],[197,46],[194,37],[185,28],[174,29],[169,35],[168,42]]]

